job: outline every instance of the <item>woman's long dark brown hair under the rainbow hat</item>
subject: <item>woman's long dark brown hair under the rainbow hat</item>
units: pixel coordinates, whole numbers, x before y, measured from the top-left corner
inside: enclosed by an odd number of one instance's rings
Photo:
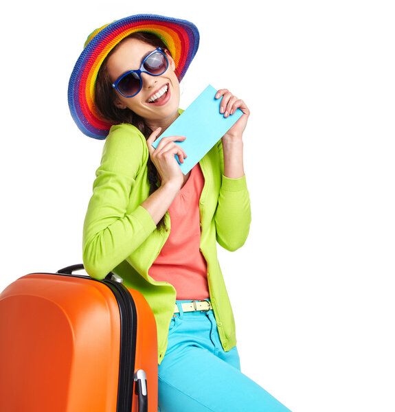
[[[148,45],[152,45],[154,47],[161,47],[161,49],[167,49],[165,43],[163,43],[161,38],[159,38],[157,35],[153,33],[136,32],[130,34],[126,38],[137,38],[137,40],[143,41]],[[126,40],[126,38],[124,38],[122,41]],[[122,41],[120,43],[122,43]],[[115,52],[120,43],[118,43],[111,50],[111,52],[109,52],[98,71],[98,77],[96,78],[95,82],[95,106],[96,108],[98,108],[98,111],[101,113],[102,117],[104,117],[104,119],[106,119],[108,122],[115,124],[133,124],[133,126],[139,129],[140,132],[142,132],[142,134],[144,135],[144,137],[148,139],[150,134],[153,133],[153,130],[151,130],[148,127],[144,119],[141,116],[134,113],[133,111],[131,111],[130,108],[118,108],[114,104],[115,98],[117,98],[117,92],[111,85],[111,78],[107,70],[107,60],[109,56],[111,56],[111,54]],[[157,169],[155,168],[155,165],[150,158],[148,158],[147,161],[147,168],[148,181],[150,183],[150,194],[152,194],[158,188],[158,174]],[[158,223],[158,227],[164,227],[164,216]]]

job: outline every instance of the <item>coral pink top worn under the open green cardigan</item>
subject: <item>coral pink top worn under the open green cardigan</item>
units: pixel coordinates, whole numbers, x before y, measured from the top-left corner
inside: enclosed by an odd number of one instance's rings
[[[200,251],[199,200],[204,176],[199,163],[169,207],[171,229],[166,243],[148,274],[158,282],[169,282],[177,300],[208,299],[207,265]]]

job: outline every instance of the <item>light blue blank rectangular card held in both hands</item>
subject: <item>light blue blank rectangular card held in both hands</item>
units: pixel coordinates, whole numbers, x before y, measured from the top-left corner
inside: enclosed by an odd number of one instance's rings
[[[190,172],[194,165],[203,159],[206,153],[242,116],[240,108],[237,108],[235,113],[228,117],[219,113],[222,99],[215,98],[216,92],[216,89],[209,84],[153,143],[153,147],[156,149],[163,137],[186,137],[184,141],[176,142],[188,156],[183,163],[180,163],[176,155],[183,174]]]

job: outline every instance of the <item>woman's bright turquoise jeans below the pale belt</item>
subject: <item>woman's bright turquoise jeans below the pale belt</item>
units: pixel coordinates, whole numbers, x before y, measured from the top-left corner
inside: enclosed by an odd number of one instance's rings
[[[214,312],[174,314],[159,365],[158,412],[291,412],[240,371],[224,352]]]

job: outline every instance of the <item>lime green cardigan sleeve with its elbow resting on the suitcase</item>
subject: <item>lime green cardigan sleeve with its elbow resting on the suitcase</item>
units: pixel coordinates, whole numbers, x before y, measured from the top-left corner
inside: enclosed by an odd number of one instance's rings
[[[106,138],[83,229],[82,260],[91,277],[104,278],[156,229],[144,207],[129,207],[145,152],[145,139],[133,126],[113,126]]]

